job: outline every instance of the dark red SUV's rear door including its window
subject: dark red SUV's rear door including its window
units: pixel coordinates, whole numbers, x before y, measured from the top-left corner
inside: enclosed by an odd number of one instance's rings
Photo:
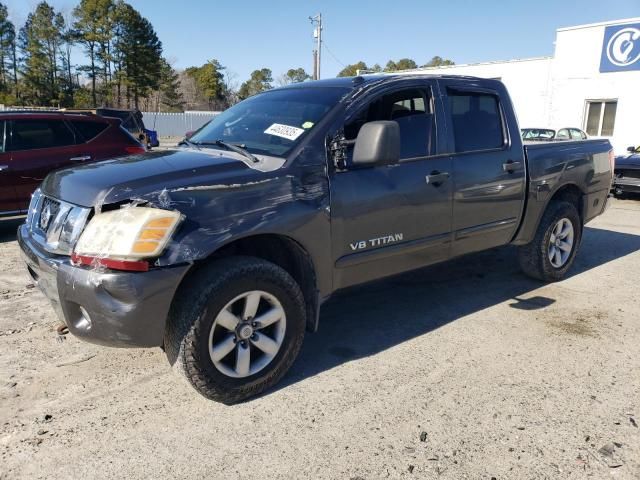
[[[17,119],[10,122],[8,177],[18,208],[26,210],[31,194],[52,170],[78,161],[75,135],[61,119]]]

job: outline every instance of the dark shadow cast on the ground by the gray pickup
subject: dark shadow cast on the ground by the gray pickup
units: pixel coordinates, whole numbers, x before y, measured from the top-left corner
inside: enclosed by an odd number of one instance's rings
[[[640,235],[586,227],[570,276],[638,250]],[[307,335],[298,360],[275,388],[375,355],[505,301],[526,310],[562,301],[527,295],[542,285],[520,272],[515,248],[504,247],[347,290],[323,306],[319,331]]]

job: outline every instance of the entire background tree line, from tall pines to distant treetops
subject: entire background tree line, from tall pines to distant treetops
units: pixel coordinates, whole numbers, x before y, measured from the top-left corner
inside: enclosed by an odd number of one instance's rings
[[[74,49],[82,50],[82,64],[72,62]],[[423,66],[452,64],[433,57]],[[390,60],[384,68],[358,62],[338,76],[417,67],[408,58]],[[19,28],[0,3],[0,103],[8,105],[223,110],[274,86],[310,78],[303,68],[276,78],[261,68],[240,83],[217,59],[177,71],[164,57],[151,22],[124,0],[80,0],[68,15],[42,1]]]

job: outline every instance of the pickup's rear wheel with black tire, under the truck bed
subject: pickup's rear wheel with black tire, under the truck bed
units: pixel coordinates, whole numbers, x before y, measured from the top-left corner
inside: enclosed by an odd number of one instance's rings
[[[553,256],[554,260],[552,261],[550,255],[551,240],[555,238],[554,229],[559,226],[559,222],[565,222],[567,220],[571,223],[573,229],[571,250],[568,252],[566,258],[562,259],[564,261],[558,261],[557,256]],[[564,226],[567,226],[566,223]],[[526,245],[518,247],[520,268],[526,275],[537,280],[545,282],[561,280],[569,268],[571,268],[581,240],[582,219],[576,206],[566,201],[554,201],[549,204],[547,210],[544,212],[533,240]],[[561,245],[563,248],[566,248],[566,242],[561,241]],[[558,250],[561,252],[561,255],[564,255],[563,250]]]

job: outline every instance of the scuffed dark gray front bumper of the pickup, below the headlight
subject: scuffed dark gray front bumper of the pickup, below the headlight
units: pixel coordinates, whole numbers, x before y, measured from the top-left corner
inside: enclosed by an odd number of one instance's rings
[[[189,265],[148,272],[75,266],[43,251],[25,225],[18,243],[31,278],[71,333],[111,347],[162,346],[169,307]]]

